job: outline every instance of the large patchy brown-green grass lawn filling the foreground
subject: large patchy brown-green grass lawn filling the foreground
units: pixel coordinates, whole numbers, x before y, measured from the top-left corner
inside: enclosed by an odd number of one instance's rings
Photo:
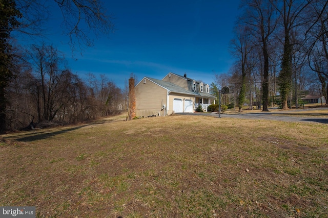
[[[37,217],[328,217],[327,125],[112,121],[2,135],[0,205]]]

